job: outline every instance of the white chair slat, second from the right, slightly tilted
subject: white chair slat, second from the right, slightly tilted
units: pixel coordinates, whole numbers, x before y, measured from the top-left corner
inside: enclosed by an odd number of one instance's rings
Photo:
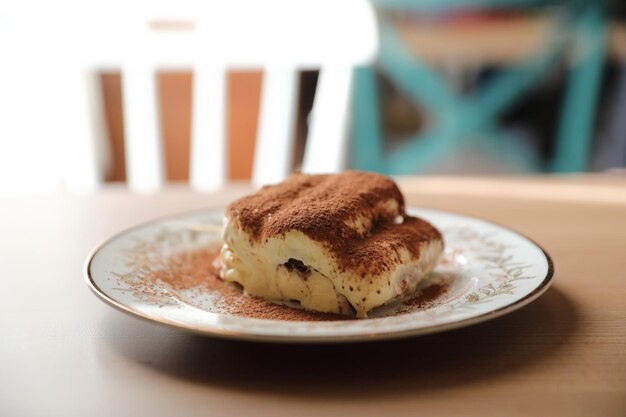
[[[263,73],[252,181],[283,180],[291,172],[298,90],[295,68],[268,68]]]

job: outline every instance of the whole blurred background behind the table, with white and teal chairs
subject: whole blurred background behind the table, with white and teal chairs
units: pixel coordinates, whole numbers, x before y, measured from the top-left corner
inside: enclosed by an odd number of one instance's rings
[[[626,167],[626,3],[0,3],[0,195]]]

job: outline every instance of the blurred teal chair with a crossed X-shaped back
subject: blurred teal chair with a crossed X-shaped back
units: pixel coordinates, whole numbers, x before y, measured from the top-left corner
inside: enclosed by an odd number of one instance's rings
[[[545,2],[508,0],[375,0],[379,10],[432,10],[442,7],[510,7]],[[425,131],[386,151],[381,131],[374,68],[355,74],[350,165],[389,175],[427,172],[460,146],[473,146],[526,171],[573,172],[587,166],[596,97],[604,59],[606,24],[603,5],[593,1],[559,3],[545,47],[526,62],[499,72],[471,95],[455,92],[434,69],[420,61],[380,19],[381,50],[377,70],[429,114]],[[533,151],[498,125],[499,116],[563,59],[573,46],[567,91],[560,115],[554,159],[545,164]],[[558,112],[555,112],[558,114]]]

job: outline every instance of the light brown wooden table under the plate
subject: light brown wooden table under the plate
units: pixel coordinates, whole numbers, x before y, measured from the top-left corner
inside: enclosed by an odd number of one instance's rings
[[[217,340],[104,305],[83,261],[120,229],[224,204],[245,186],[1,202],[0,416],[625,416],[626,177],[401,184],[414,205],[540,242],[552,288],[503,318],[395,342]]]

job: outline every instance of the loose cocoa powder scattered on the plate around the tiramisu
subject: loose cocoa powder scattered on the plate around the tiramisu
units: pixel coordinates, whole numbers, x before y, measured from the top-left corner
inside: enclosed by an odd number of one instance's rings
[[[240,288],[219,278],[218,253],[214,248],[183,252],[171,256],[145,274],[135,285],[146,287],[166,286],[168,293],[185,301],[185,292],[213,294],[216,297],[210,312],[256,319],[286,321],[336,321],[356,318],[335,313],[319,313],[272,303],[261,298],[246,296]],[[391,315],[406,314],[434,306],[447,291],[446,285],[431,285],[414,299],[404,302]],[[204,308],[205,306],[203,306]]]

